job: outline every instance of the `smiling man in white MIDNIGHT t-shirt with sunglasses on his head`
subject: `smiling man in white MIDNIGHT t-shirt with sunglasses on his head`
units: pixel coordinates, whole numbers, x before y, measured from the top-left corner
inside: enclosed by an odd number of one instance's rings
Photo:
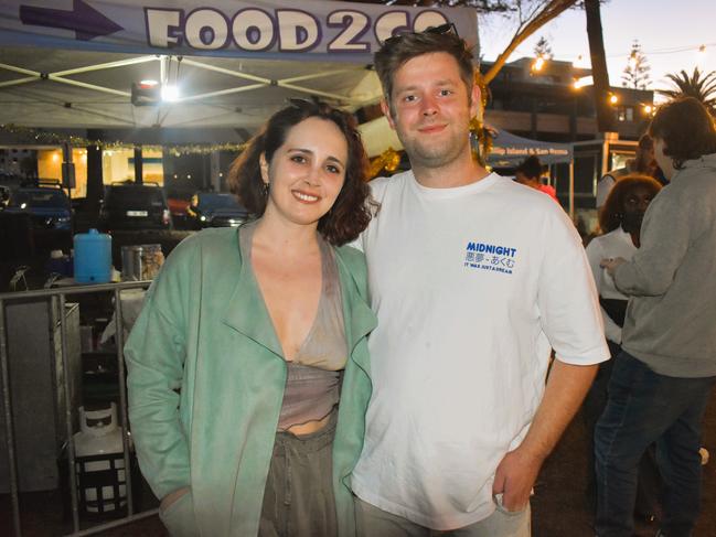
[[[360,239],[378,327],[351,485],[364,536],[522,537],[539,468],[609,354],[564,211],[472,159],[472,55],[441,30],[375,57],[413,170],[372,183],[382,206]]]

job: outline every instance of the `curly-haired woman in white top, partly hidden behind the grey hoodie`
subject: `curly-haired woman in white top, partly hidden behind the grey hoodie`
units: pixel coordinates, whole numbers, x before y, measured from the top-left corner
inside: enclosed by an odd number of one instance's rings
[[[612,359],[602,362],[584,404],[584,418],[587,433],[594,443],[594,431],[599,416],[607,405],[607,386],[611,376],[613,358],[621,350],[621,327],[624,324],[627,302],[629,298],[621,293],[611,277],[599,262],[605,258],[622,257],[631,259],[640,245],[641,222],[646,207],[661,190],[661,184],[648,175],[624,175],[617,182],[599,213],[599,227],[602,235],[591,239],[587,246],[587,258],[595,277],[601,316],[605,322],[605,335]],[[590,455],[594,445],[590,445]],[[595,497],[595,470],[590,457],[589,485],[587,495]],[[653,458],[644,457],[640,466],[639,494],[637,513],[646,519],[655,514],[659,488],[659,472],[654,468]]]

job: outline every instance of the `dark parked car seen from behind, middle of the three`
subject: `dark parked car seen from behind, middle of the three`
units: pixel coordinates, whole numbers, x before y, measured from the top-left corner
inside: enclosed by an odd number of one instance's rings
[[[164,191],[156,183],[113,183],[105,187],[99,214],[103,230],[171,229]]]

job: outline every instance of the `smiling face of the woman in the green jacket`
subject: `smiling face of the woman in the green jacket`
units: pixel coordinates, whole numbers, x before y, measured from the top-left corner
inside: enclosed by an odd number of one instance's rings
[[[270,162],[261,154],[261,178],[269,183],[266,216],[318,225],[345,181],[349,148],[330,120],[311,117],[293,126]]]

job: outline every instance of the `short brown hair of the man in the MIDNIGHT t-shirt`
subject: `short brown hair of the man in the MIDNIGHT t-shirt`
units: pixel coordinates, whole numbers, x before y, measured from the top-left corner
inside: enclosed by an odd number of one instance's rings
[[[455,28],[450,25],[451,28]],[[467,42],[457,33],[428,29],[424,32],[409,32],[388,37],[375,53],[375,71],[377,72],[385,100],[392,107],[393,78],[395,73],[414,57],[424,54],[445,52],[458,63],[460,78],[468,88],[468,98],[474,84],[474,66],[472,51]],[[446,25],[447,28],[447,25]]]

